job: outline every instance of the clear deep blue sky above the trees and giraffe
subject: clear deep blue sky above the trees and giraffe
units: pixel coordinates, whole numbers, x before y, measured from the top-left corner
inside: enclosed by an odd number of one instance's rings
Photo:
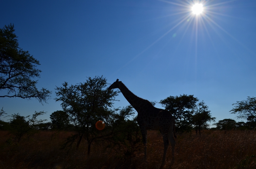
[[[55,88],[103,75],[150,101],[194,94],[217,121],[232,104],[256,97],[256,1],[4,1],[0,27],[14,24],[19,46],[41,65],[37,87],[48,104],[0,98],[6,113],[62,110]],[[5,91],[2,91],[5,92]],[[122,94],[115,107],[129,103]],[[162,108],[160,104],[156,105]]]

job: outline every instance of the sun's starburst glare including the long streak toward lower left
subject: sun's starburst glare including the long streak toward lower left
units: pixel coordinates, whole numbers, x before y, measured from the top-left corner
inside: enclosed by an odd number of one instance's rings
[[[213,48],[216,50],[213,39],[211,36],[213,36],[210,33],[210,30],[213,30],[217,36],[223,36],[220,32],[224,32],[226,35],[228,35],[230,38],[235,40],[237,43],[239,43],[244,48],[245,45],[243,45],[241,42],[239,42],[238,39],[236,39],[234,36],[232,36],[227,30],[225,30],[223,27],[218,24],[218,21],[216,19],[220,17],[231,17],[232,16],[223,14],[218,11],[218,7],[223,7],[224,5],[227,5],[229,3],[232,3],[234,1],[238,0],[227,0],[224,2],[214,3],[214,0],[158,0],[160,2],[170,4],[170,14],[163,15],[160,17],[156,17],[153,19],[161,19],[161,18],[168,18],[171,16],[179,16],[176,17],[177,19],[172,20],[165,28],[170,27],[167,29],[165,33],[159,36],[159,38],[156,38],[151,44],[148,44],[146,48],[144,48],[141,52],[139,52],[134,57],[131,57],[129,61],[127,61],[121,68],[118,69],[117,72],[119,72],[122,68],[129,65],[131,62],[133,62],[136,58],[141,56],[143,53],[145,53],[147,50],[149,50],[152,46],[154,46],[157,42],[162,40],[165,37],[170,36],[171,32],[173,31],[179,31],[181,36],[179,39],[179,43],[177,45],[179,46],[182,43],[182,40],[184,37],[188,34],[189,30],[191,30],[191,46],[194,46],[194,52],[195,52],[195,66],[197,64],[197,55],[198,55],[198,36],[201,35],[202,30],[204,30],[209,38],[209,41],[213,45]],[[177,7],[175,9],[175,6]],[[174,10],[175,9],[175,10]],[[175,12],[174,12],[175,11]],[[152,20],[152,19],[151,19]],[[184,29],[183,29],[184,28]],[[183,31],[183,32],[182,32]],[[173,32],[175,33],[175,32]],[[170,37],[171,38],[171,37]],[[224,42],[223,37],[219,38]],[[200,41],[199,41],[200,42]],[[169,43],[169,41],[167,42]],[[167,44],[166,43],[166,44]],[[224,42],[225,43],[225,42]],[[226,44],[227,45],[227,44]],[[246,48],[247,49],[247,48]]]

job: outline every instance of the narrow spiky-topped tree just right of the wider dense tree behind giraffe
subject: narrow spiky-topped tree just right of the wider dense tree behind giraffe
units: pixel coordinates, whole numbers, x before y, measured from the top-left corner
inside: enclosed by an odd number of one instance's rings
[[[208,106],[205,102],[201,101],[198,103],[197,108],[195,110],[195,114],[193,115],[193,125],[195,132],[199,131],[199,135],[201,135],[202,129],[209,128],[209,124],[207,122],[215,122],[215,117],[211,117],[210,110],[208,110]]]

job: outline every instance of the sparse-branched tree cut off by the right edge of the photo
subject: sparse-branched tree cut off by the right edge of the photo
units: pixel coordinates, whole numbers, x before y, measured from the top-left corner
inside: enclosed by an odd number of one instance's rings
[[[256,97],[247,97],[247,100],[237,101],[235,107],[229,112],[238,114],[237,118],[256,121]]]

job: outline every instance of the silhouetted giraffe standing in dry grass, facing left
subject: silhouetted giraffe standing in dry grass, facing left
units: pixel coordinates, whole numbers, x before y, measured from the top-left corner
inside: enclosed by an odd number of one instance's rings
[[[165,157],[169,141],[172,147],[172,161],[174,163],[174,147],[175,147],[175,121],[168,110],[155,108],[148,100],[140,98],[133,94],[123,83],[117,79],[111,84],[108,90],[118,88],[126,100],[138,112],[137,122],[141,129],[142,140],[144,144],[144,159],[147,160],[147,130],[160,130],[163,135],[164,151],[160,168],[165,164]]]

